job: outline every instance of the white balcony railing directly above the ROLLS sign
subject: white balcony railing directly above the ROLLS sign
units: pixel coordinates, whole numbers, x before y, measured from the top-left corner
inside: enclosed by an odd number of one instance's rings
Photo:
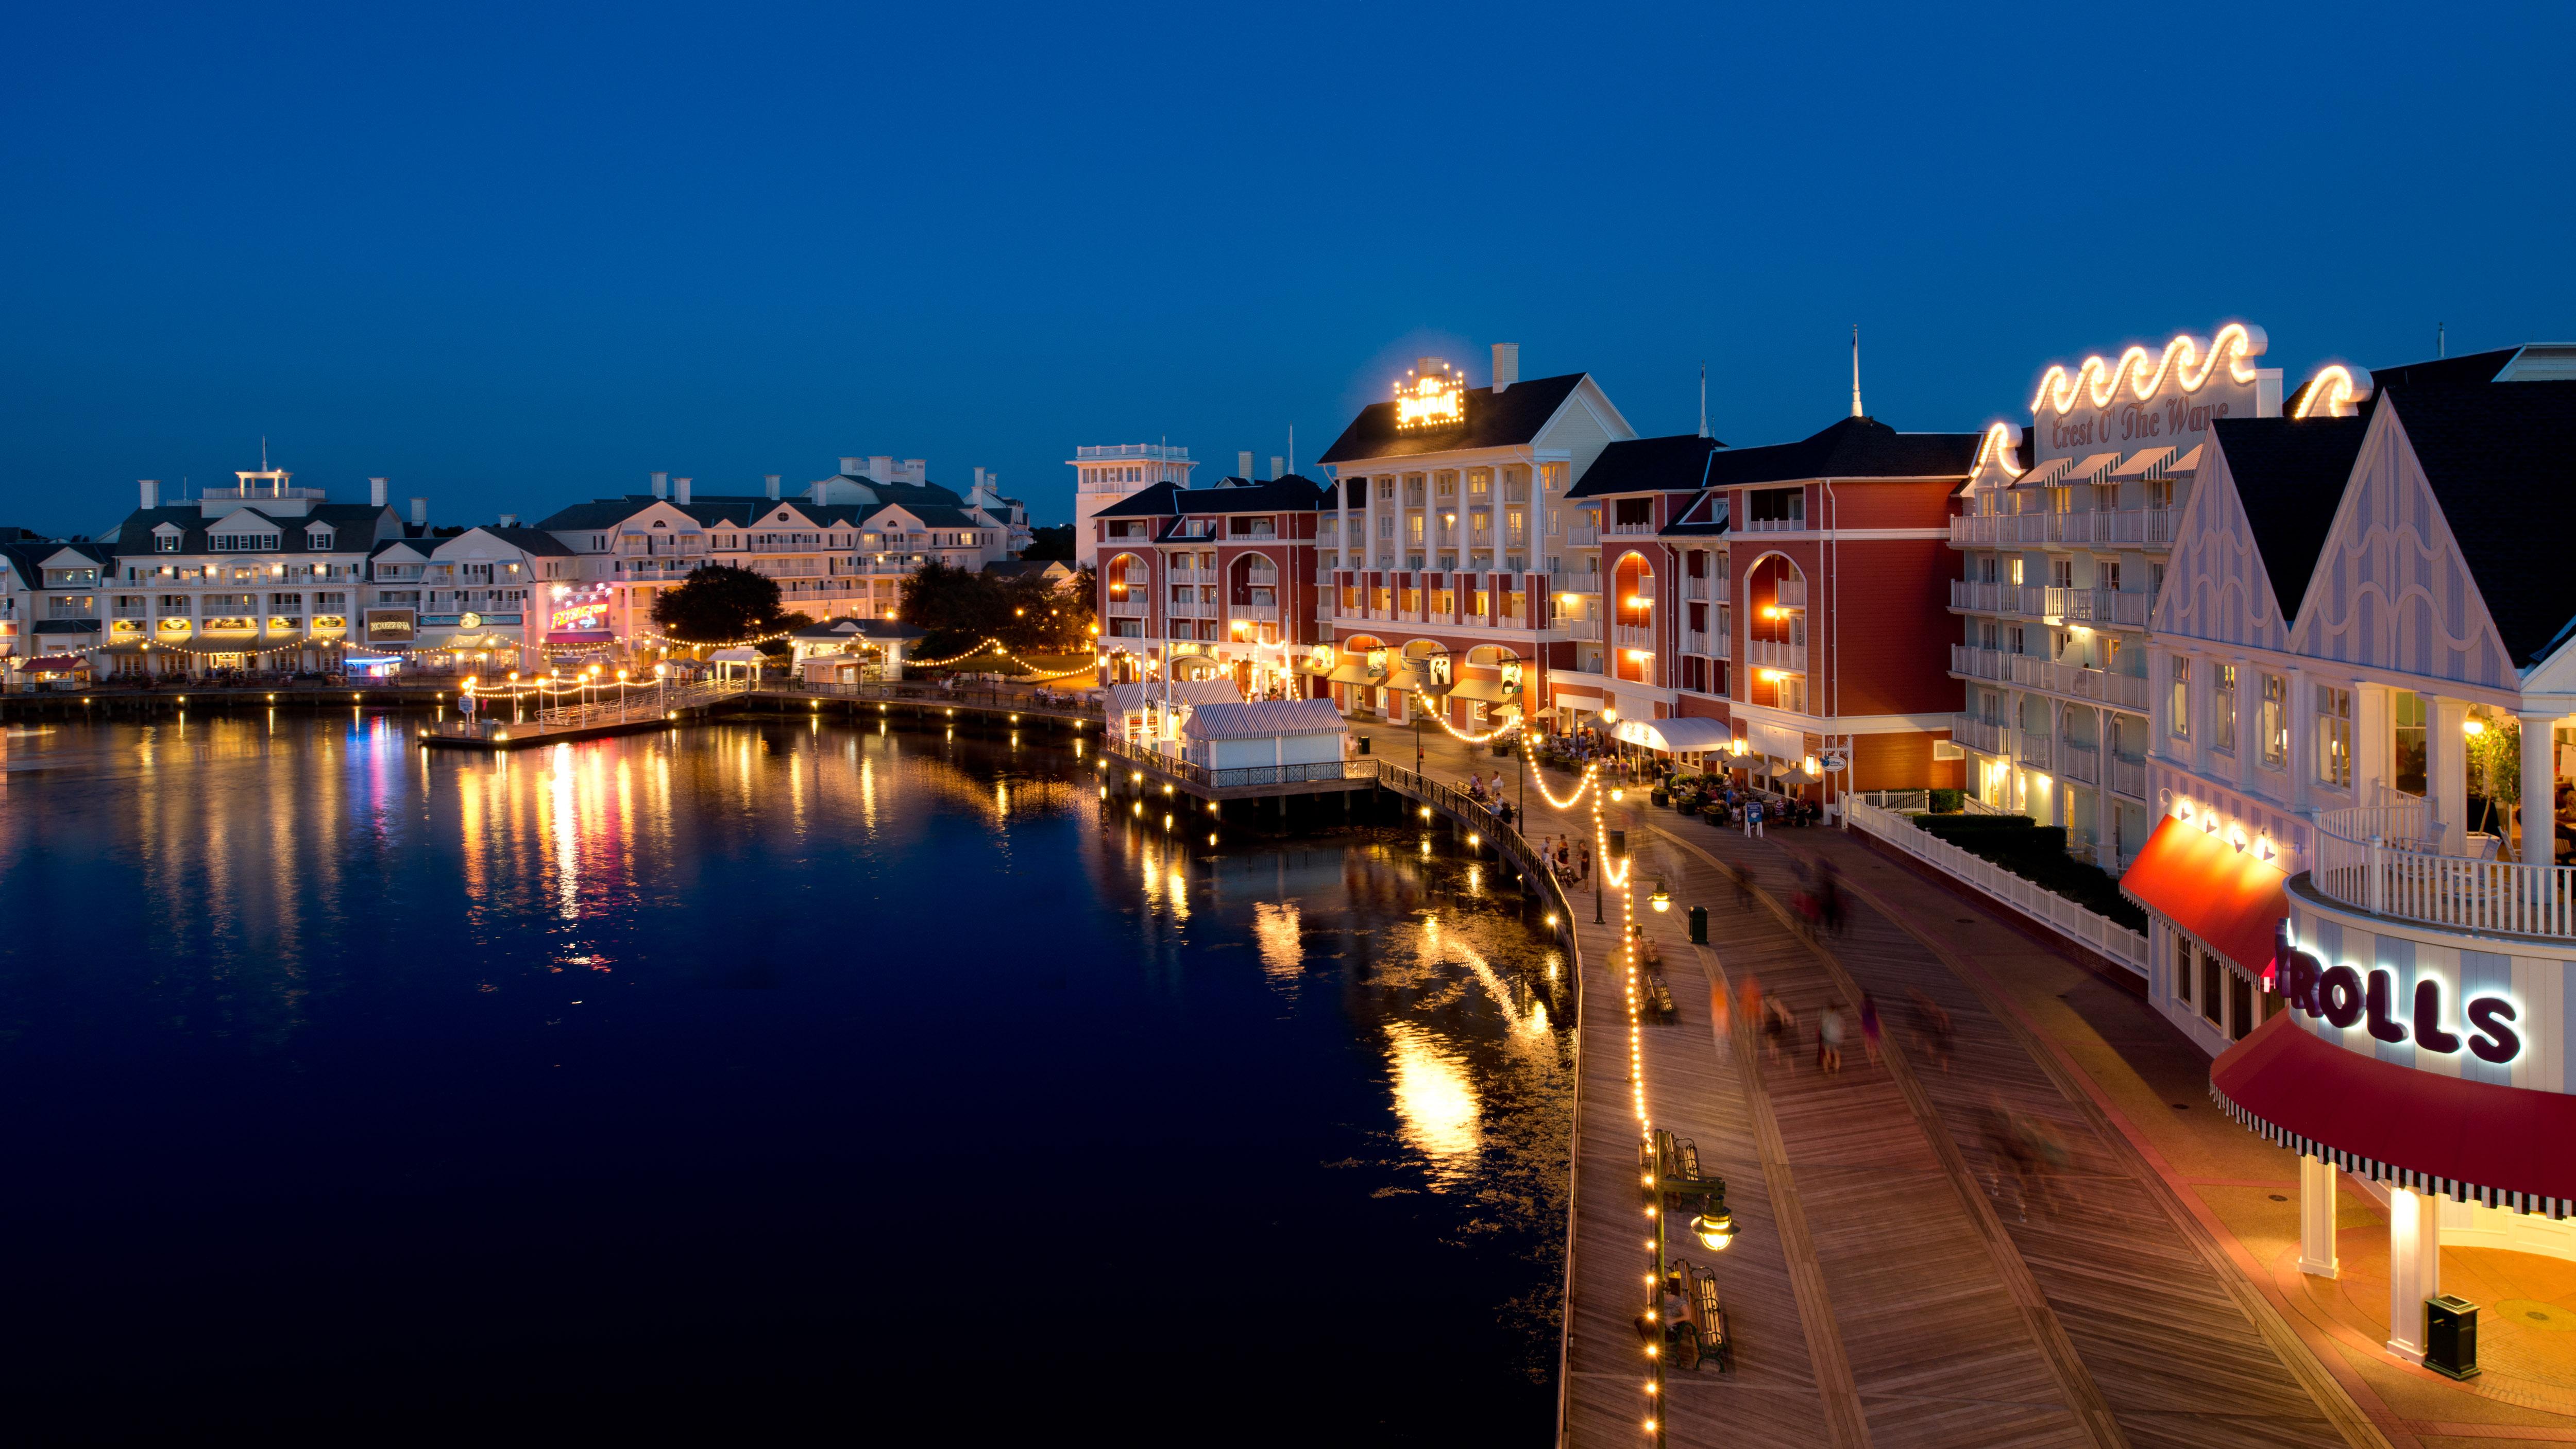
[[[2308,880],[2380,916],[2576,939],[2576,867],[2439,854],[2424,839],[2432,829],[2424,806],[2324,811]]]

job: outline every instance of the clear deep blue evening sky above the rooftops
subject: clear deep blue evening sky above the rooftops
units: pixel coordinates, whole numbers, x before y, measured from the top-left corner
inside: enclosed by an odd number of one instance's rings
[[[842,453],[1314,458],[1417,353],[1643,432],[2027,417],[2208,332],[2576,337],[2576,10],[216,8],[0,26],[0,522],[258,461],[438,522]]]

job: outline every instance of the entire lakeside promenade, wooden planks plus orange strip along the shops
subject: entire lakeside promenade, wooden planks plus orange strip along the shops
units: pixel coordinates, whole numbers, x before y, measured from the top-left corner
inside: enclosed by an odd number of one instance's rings
[[[1510,764],[1448,739],[1427,754],[1450,780]],[[1589,806],[1558,816],[1535,790],[1530,806],[1533,836],[1589,831]],[[1674,1248],[1718,1271],[1739,1356],[1734,1374],[1669,1374],[1669,1444],[2576,1441],[2548,1405],[2375,1351],[2349,1289],[2303,1284],[2295,1264],[2280,1277],[2293,1158],[2208,1104],[2208,1058],[2125,983],[1860,836],[1747,842],[1636,798],[1610,813],[1680,1006],[1680,1024],[1646,1029],[1649,1104],[1728,1179],[1741,1225],[1721,1256]],[[1855,898],[1847,932],[1811,945],[1785,903],[1819,860]],[[1721,862],[1752,872],[1752,898]],[[1643,911],[1656,875],[1669,916]],[[1687,945],[1695,903],[1710,947]],[[1605,919],[1582,927],[1571,1444],[1636,1444],[1654,1413],[1615,898]],[[1752,983],[1798,1017],[1777,1055],[1728,1009]],[[1862,996],[1886,1022],[1875,1063]],[[1847,1024],[1839,1073],[1814,1058],[1829,1006]],[[2017,1171],[2007,1120],[2040,1125],[2063,1166]],[[2352,1197],[2360,1269],[2375,1210]]]

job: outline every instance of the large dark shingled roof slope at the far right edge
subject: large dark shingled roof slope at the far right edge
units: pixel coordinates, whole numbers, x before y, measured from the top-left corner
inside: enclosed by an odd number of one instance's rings
[[[2468,358],[2463,358],[2468,360]],[[2576,623],[2576,381],[2383,386],[2514,664]]]

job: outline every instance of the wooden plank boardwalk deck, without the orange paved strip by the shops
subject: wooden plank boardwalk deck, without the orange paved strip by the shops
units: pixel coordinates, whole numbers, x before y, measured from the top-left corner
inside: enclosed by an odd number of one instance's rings
[[[1945,957],[1860,898],[1839,939],[1811,945],[1790,929],[1801,862],[1855,842],[1829,831],[1747,842],[1664,811],[1613,813],[1628,818],[1638,921],[1662,945],[1680,1006],[1677,1024],[1646,1027],[1649,1109],[1726,1176],[1741,1228],[1726,1253],[1687,1233],[1669,1251],[1716,1269],[1736,1369],[1667,1374],[1662,1410],[1643,1387],[1633,1318],[1651,1225],[1613,901],[1610,924],[1582,911],[1579,927],[1569,1444],[1646,1444],[1654,1413],[1667,1444],[1692,1446],[2385,1444],[1976,963]],[[1589,808],[1540,806],[1530,821],[1533,836],[1584,829]],[[1749,867],[1752,901],[1736,901],[1718,862]],[[1643,911],[1656,875],[1677,901],[1669,916]],[[1687,942],[1690,903],[1710,911],[1708,947]],[[1986,919],[1965,898],[1953,914]],[[1710,996],[1741,1001],[1749,983],[1798,1014],[1798,1040],[1777,1060],[1741,1009]],[[1875,1066],[1862,993],[1886,1022]],[[1947,1053],[1917,996],[1947,1014]],[[1847,1027],[1839,1073],[1816,1063],[1829,1006]],[[2017,1174],[2007,1114],[2043,1122],[2063,1166]]]

